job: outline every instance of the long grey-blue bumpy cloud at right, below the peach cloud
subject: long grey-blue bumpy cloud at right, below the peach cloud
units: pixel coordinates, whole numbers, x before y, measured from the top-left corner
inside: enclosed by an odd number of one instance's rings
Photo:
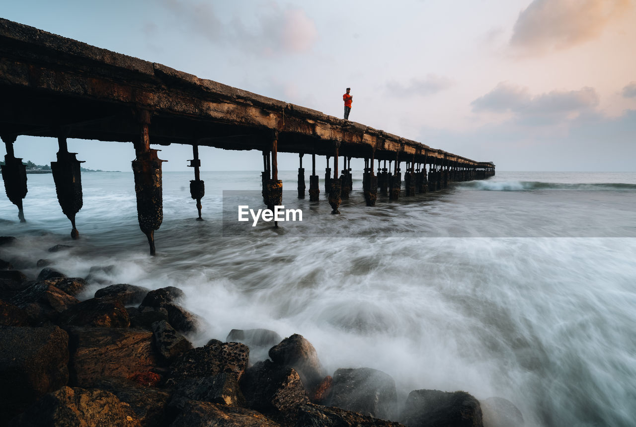
[[[554,123],[595,112],[598,93],[594,88],[532,95],[528,88],[501,82],[493,90],[471,102],[473,112],[511,112],[527,123]]]

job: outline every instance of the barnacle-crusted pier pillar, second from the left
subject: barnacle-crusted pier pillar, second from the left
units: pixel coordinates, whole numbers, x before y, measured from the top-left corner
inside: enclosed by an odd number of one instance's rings
[[[79,232],[75,227],[75,215],[83,205],[81,192],[81,163],[75,156],[76,152],[69,152],[66,144],[66,137],[60,136],[57,139],[59,151],[57,161],[51,162],[51,172],[55,181],[55,191],[57,200],[60,202],[62,212],[71,220],[71,237],[79,238]]]

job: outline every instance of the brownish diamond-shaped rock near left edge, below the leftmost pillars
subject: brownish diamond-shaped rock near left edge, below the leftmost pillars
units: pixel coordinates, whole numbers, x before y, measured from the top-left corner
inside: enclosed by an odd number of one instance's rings
[[[30,322],[39,325],[47,321],[54,322],[59,313],[79,301],[53,285],[35,283],[16,294],[9,302],[24,309]]]

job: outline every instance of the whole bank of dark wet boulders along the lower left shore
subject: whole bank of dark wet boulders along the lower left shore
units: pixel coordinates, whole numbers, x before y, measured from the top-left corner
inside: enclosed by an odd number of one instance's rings
[[[0,426],[523,425],[504,398],[422,389],[398,402],[380,370],[329,374],[300,334],[233,329],[194,348],[204,322],[179,288],[104,283],[79,301],[90,276],[38,260],[29,278],[11,265],[14,241],[0,237]]]

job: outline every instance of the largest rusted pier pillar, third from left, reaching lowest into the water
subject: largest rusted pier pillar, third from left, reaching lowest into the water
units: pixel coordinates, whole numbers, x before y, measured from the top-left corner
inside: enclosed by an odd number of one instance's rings
[[[141,135],[134,143],[137,158],[132,161],[132,172],[135,176],[135,193],[137,193],[137,219],[139,228],[146,234],[150,255],[155,255],[155,230],[163,222],[163,194],[161,160],[157,150],[150,148],[150,112],[139,111]]]

